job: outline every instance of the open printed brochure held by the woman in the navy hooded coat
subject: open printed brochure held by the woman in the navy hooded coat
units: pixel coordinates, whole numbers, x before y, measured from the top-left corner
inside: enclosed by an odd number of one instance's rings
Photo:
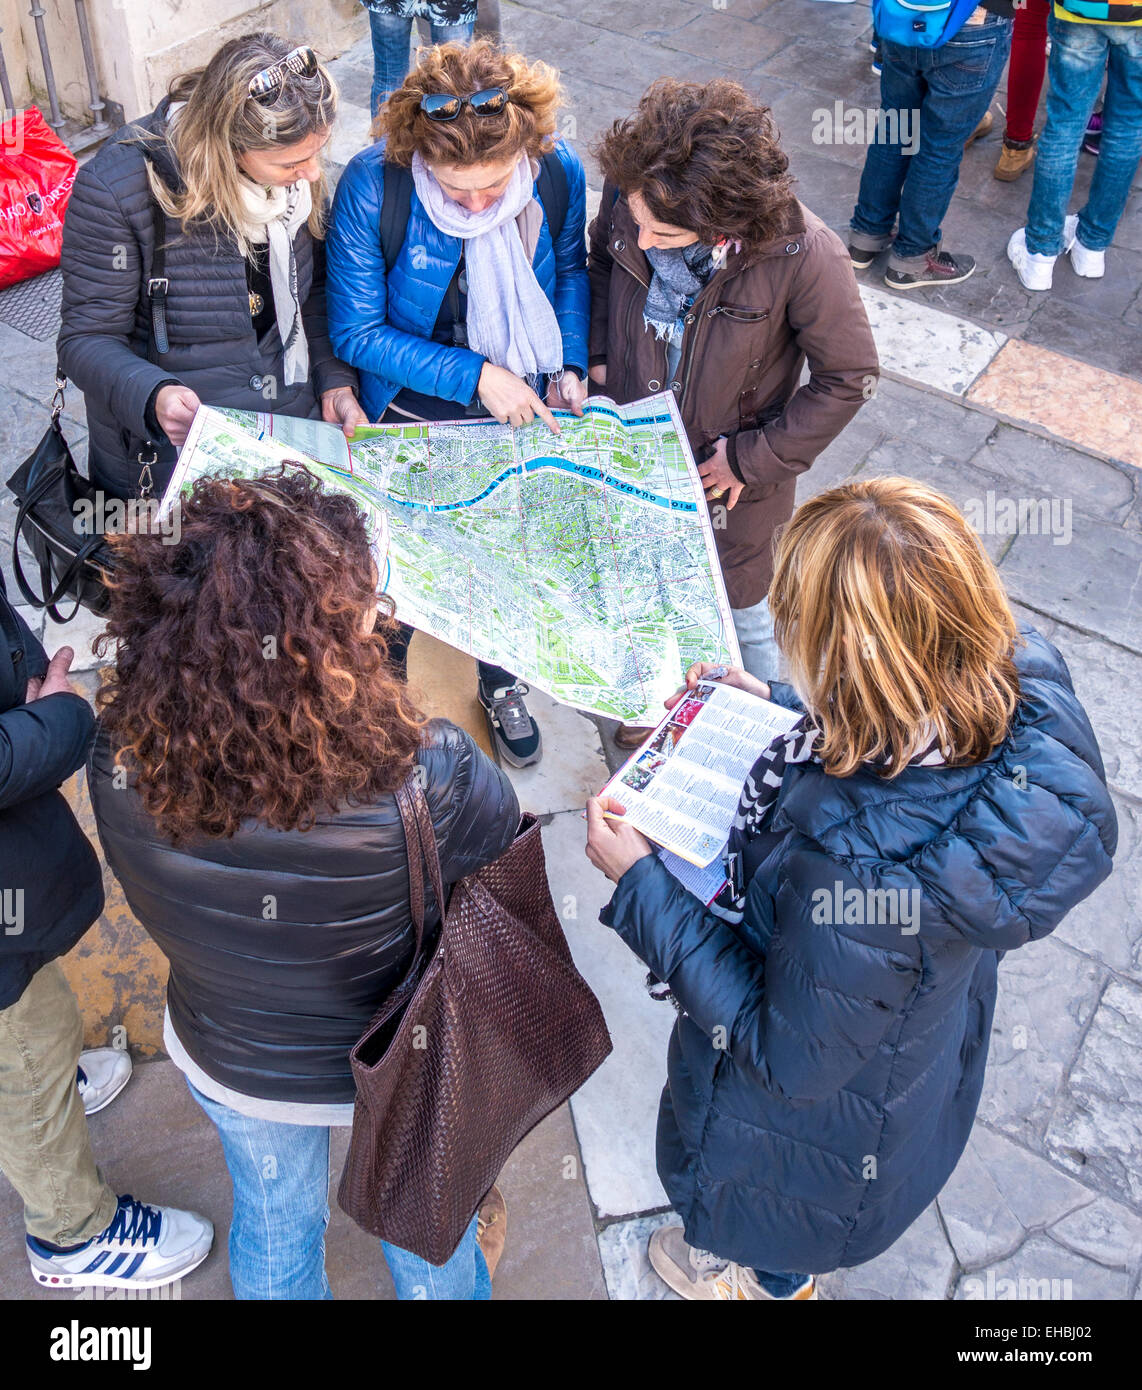
[[[800,714],[718,681],[699,681],[603,788],[624,820],[663,847],[667,867],[709,902],[725,874],[742,785],[763,749]],[[675,863],[675,860],[678,860]]]

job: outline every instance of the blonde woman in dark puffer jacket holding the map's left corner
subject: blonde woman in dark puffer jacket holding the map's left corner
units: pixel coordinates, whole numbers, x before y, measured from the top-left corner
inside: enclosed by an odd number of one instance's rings
[[[200,403],[365,420],[325,325],[321,152],[336,88],[313,49],[225,43],[81,168],[64,224],[63,371],[89,471],[161,488]]]

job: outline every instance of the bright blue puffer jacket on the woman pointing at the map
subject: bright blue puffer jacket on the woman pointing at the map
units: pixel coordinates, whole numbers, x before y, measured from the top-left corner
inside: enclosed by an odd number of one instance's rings
[[[546,213],[532,267],[563,331],[563,360],[586,375],[586,181],[578,154],[556,146],[567,172],[567,215],[552,243]],[[461,240],[446,236],[411,196],[404,245],[385,272],[381,204],[385,149],[356,154],[340,177],[325,239],[329,341],[361,377],[361,407],[379,420],[402,386],[467,406],[475,399],[483,357],[433,343],[440,303],[460,263]],[[538,196],[538,193],[536,193]]]

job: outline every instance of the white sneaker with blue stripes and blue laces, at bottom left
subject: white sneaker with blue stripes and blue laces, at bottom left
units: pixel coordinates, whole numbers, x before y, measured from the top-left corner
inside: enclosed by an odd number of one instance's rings
[[[74,1250],[29,1236],[28,1262],[46,1289],[161,1289],[197,1269],[213,1243],[206,1216],[126,1195],[107,1230]]]

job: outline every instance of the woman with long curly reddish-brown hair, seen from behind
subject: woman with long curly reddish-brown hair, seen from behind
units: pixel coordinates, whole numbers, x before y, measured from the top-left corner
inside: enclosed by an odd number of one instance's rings
[[[507,848],[520,809],[414,706],[361,513],[307,470],[200,480],[176,545],[113,545],[103,849],[171,962],[164,1042],[222,1140],[235,1297],[329,1298],[329,1127],[351,1123],[350,1048],[414,949],[393,792],[415,764],[446,885]],[[490,1297],[475,1218],[439,1268],[382,1244],[400,1298]]]

